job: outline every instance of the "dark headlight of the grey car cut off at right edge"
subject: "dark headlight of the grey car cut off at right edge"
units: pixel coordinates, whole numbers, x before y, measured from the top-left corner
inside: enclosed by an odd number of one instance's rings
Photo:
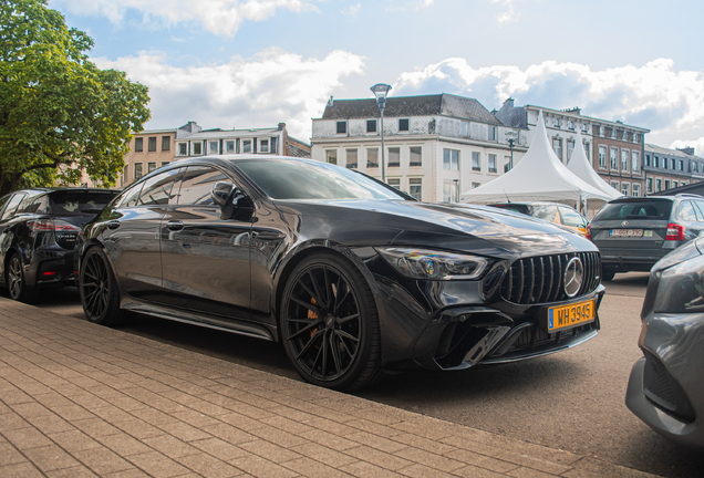
[[[704,312],[704,256],[671,267],[660,276],[654,312]]]

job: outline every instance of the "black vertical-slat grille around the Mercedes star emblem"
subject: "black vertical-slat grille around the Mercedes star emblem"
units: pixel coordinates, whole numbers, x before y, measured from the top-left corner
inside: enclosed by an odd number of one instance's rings
[[[574,297],[592,292],[599,285],[601,276],[599,252],[570,252],[517,260],[504,278],[501,297],[519,304],[570,299],[565,292],[565,270],[573,257],[579,257],[584,268],[582,284]]]

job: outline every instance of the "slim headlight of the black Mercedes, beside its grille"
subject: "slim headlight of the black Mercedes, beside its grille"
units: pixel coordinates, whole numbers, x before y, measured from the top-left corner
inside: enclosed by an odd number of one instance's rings
[[[396,271],[411,279],[477,279],[489,264],[483,257],[428,249],[383,247],[376,250]]]

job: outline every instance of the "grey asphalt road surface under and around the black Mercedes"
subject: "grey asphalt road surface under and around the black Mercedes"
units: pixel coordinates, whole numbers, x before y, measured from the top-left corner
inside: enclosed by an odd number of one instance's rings
[[[648,274],[607,283],[599,335],[567,352],[456,373],[390,375],[356,395],[525,441],[591,454],[666,477],[700,476],[704,457],[661,438],[624,405],[641,352],[640,310]],[[77,291],[46,295],[39,306],[83,318]],[[142,316],[125,332],[299,380],[277,344]]]

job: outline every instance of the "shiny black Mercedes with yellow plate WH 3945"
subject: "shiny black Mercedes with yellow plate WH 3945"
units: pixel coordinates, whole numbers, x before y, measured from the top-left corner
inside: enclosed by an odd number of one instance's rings
[[[281,341],[300,375],[458,370],[574,346],[599,329],[597,248],[494,208],[418,202],[286,157],[170,164],[83,229],[92,322],[136,311]]]

